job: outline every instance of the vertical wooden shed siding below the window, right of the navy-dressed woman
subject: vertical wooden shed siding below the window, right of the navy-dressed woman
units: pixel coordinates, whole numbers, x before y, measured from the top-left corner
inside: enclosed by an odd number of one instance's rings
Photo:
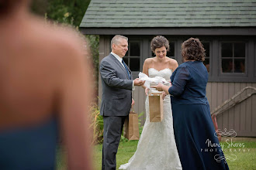
[[[256,87],[256,83],[208,83],[206,97],[209,100],[210,110],[223,104],[225,100],[233,97],[244,87]],[[251,93],[251,90],[244,91],[240,97],[248,93]],[[256,95],[218,115],[217,122],[221,130],[234,129],[237,136],[256,137]]]

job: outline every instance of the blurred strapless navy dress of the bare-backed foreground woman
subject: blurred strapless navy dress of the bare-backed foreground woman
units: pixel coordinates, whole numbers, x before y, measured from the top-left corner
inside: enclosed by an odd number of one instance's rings
[[[0,133],[1,170],[55,169],[57,122]]]

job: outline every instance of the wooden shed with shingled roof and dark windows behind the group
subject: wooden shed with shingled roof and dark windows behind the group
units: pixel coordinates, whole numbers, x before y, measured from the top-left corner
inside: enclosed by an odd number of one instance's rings
[[[182,42],[199,38],[206,49],[206,93],[212,111],[244,87],[256,87],[255,0],[92,0],[80,29],[84,34],[100,36],[99,60],[109,55],[112,36],[127,36],[129,51],[124,60],[133,77],[142,71],[144,60],[154,56],[150,51],[154,36],[168,38],[168,56],[178,64],[182,63]],[[226,109],[220,109],[216,119],[221,130],[234,129],[237,136],[256,137],[254,92],[248,88],[230,100]],[[101,93],[99,80],[99,97]],[[136,88],[133,98],[135,111],[144,111],[146,97],[142,87]],[[140,118],[144,124],[145,115]]]

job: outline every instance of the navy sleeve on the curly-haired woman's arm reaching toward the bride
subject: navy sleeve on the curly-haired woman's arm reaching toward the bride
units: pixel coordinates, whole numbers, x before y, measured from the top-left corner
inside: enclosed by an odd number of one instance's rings
[[[177,68],[175,76],[172,80],[172,86],[169,88],[169,93],[175,97],[180,96],[184,89],[186,83],[191,78],[189,70],[187,66],[182,66],[181,68]]]

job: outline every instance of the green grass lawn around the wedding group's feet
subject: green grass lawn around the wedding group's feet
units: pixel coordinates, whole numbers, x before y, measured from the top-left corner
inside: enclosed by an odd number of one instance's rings
[[[129,161],[130,157],[137,149],[138,141],[122,141],[116,155],[116,168]],[[236,158],[234,162],[227,160],[230,170],[254,170],[256,169],[256,141],[222,141],[224,155],[231,155]],[[230,145],[230,148],[227,148]],[[237,146],[240,145],[240,146]],[[244,146],[244,148],[243,148]],[[240,151],[239,151],[240,149]],[[245,150],[243,150],[245,149]],[[235,156],[234,156],[235,155]],[[100,170],[102,166],[102,145],[95,145],[94,148],[95,170]]]

